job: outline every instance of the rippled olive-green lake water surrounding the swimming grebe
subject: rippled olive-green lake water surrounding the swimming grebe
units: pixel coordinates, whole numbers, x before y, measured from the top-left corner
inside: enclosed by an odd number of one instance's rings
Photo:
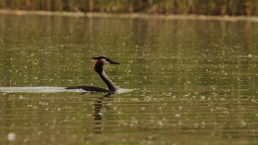
[[[0,15],[0,144],[257,144],[257,38],[251,21]],[[132,91],[62,91],[107,88],[93,56]]]

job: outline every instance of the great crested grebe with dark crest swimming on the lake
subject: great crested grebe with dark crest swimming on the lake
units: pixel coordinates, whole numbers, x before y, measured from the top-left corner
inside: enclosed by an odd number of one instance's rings
[[[105,74],[102,66],[104,64],[120,64],[120,63],[114,62],[111,59],[104,56],[92,57],[92,59],[95,59],[93,64],[94,70],[99,74],[99,76],[105,82],[108,89],[95,87],[95,86],[71,86],[71,87],[66,87],[64,89],[84,89],[87,91],[97,91],[97,92],[114,92],[118,89],[118,87]]]

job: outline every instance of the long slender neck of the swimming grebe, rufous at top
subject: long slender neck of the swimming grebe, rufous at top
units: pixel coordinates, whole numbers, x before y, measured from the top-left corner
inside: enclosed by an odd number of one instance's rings
[[[108,76],[105,74],[105,71],[103,70],[103,64],[101,62],[98,62],[97,60],[95,60],[93,66],[94,66],[94,70],[99,74],[99,76],[105,82],[105,84],[107,85],[110,91],[114,91],[118,89],[118,87],[112,82],[112,80],[109,79]]]

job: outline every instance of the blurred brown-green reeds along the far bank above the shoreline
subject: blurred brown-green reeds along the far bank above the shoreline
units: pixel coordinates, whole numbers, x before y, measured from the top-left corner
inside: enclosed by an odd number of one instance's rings
[[[0,0],[1,9],[258,15],[258,0]]]

